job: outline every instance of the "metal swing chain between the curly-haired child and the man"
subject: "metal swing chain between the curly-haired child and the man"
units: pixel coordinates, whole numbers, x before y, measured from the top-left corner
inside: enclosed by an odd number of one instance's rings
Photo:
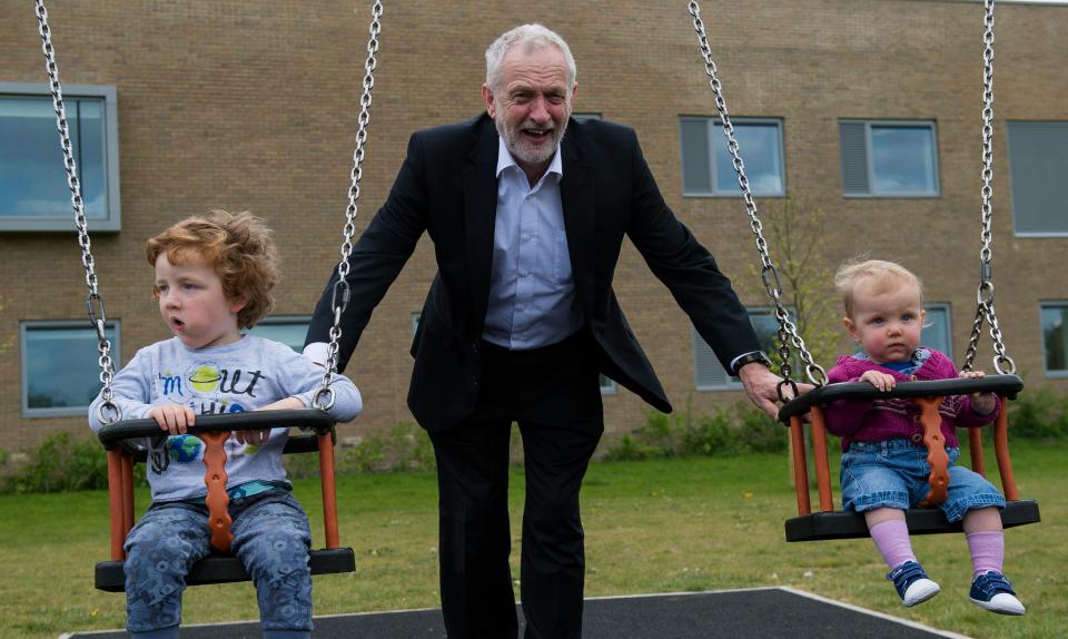
[[[378,53],[378,35],[382,31],[382,0],[376,0],[372,8],[370,37],[367,40],[367,60],[364,62],[364,92],[359,97],[359,128],[356,131],[356,149],[353,151],[352,186],[348,189],[348,208],[345,210],[345,240],[342,243],[342,260],[337,264],[337,282],[330,297],[334,308],[334,325],[330,326],[330,345],[326,356],[326,372],[323,373],[323,385],[312,397],[313,407],[328,411],[334,405],[334,375],[337,371],[338,341],[342,338],[342,313],[348,306],[350,291],[348,287],[348,258],[353,253],[353,235],[356,234],[356,200],[359,199],[359,180],[363,177],[364,142],[367,140],[367,124],[370,121],[370,90],[375,86],[375,67],[378,65],[375,56]],[[324,396],[328,397],[324,400]]]

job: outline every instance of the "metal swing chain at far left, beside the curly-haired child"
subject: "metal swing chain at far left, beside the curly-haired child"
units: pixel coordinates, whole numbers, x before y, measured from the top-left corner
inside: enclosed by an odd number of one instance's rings
[[[63,90],[59,83],[59,67],[56,65],[56,51],[52,48],[51,31],[48,28],[48,11],[42,0],[36,0],[38,31],[41,35],[41,49],[44,51],[44,70],[48,72],[49,85],[52,90],[52,107],[56,110],[56,126],[59,129],[60,146],[63,150],[63,166],[67,169],[67,186],[70,187],[70,204],[75,213],[75,226],[78,227],[78,244],[81,246],[81,264],[86,267],[86,285],[89,295],[86,297],[86,311],[89,321],[97,330],[97,351],[100,353],[100,383],[103,389],[100,397],[103,402],[98,409],[98,415],[103,424],[112,424],[122,419],[122,411],[115,404],[111,382],[115,379],[115,362],[111,360],[111,342],[105,333],[107,315],[103,309],[103,296],[97,291],[97,274],[92,252],[89,248],[89,229],[86,222],[85,204],[81,198],[81,184],[78,181],[78,167],[71,150],[70,130],[67,127],[67,109],[63,106]]]

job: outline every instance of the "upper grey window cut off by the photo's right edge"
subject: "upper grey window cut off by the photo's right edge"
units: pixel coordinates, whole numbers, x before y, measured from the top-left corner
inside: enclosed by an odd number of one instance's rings
[[[1017,235],[1068,235],[1068,122],[1009,122],[1012,227]]]

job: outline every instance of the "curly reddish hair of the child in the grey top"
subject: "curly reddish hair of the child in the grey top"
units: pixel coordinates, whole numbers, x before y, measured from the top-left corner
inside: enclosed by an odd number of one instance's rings
[[[251,328],[275,305],[271,289],[281,279],[278,250],[270,229],[250,213],[237,215],[221,209],[179,222],[148,240],[148,263],[156,266],[160,255],[171,264],[194,262],[215,271],[229,302],[244,302],[237,313],[239,328]],[[159,296],[159,291],[155,292]]]

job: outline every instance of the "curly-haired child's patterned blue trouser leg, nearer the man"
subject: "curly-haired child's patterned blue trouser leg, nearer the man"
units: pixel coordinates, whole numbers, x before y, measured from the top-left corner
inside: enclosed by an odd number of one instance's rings
[[[312,533],[304,509],[280,490],[237,499],[231,504],[234,552],[256,584],[264,637],[310,637]]]

